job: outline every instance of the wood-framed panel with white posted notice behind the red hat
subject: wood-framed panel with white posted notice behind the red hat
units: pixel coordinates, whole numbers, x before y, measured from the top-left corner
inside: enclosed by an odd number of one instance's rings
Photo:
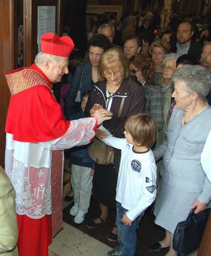
[[[45,32],[61,34],[63,0],[24,0],[24,66],[29,67],[40,52]]]

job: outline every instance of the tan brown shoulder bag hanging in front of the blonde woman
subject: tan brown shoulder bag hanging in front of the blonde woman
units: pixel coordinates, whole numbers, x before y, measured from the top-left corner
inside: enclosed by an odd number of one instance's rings
[[[125,98],[122,98],[122,101],[120,103],[119,113],[117,115],[118,118],[120,118],[120,115],[122,113],[124,100]],[[101,142],[97,138],[95,138],[94,141],[92,141],[91,145],[89,145],[87,150],[88,150],[89,156],[95,163],[103,164],[103,165],[113,163],[113,158],[114,158],[113,147],[106,145],[104,142]]]

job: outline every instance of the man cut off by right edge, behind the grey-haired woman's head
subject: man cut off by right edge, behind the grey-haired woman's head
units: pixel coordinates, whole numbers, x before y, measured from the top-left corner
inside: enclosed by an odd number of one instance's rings
[[[211,42],[207,42],[204,45],[203,50],[201,52],[201,66],[207,68],[208,72],[211,73]],[[208,104],[211,105],[211,89],[207,95]]]

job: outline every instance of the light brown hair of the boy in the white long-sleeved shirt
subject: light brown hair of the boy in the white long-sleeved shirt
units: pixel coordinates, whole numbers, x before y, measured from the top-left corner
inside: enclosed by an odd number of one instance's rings
[[[157,140],[157,125],[152,116],[144,113],[127,118],[125,129],[136,145],[151,148]]]

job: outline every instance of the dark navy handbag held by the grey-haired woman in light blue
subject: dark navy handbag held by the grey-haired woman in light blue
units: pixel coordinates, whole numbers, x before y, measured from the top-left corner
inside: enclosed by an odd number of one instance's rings
[[[180,256],[185,256],[200,246],[207,225],[210,208],[198,214],[194,214],[194,211],[195,209],[189,213],[187,220],[177,224],[173,234],[173,249]]]

